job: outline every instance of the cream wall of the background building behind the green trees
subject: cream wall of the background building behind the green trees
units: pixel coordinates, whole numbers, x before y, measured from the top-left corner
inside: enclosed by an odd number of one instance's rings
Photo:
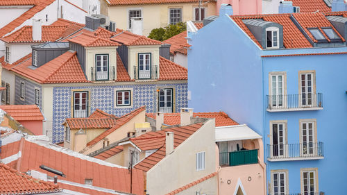
[[[197,1],[196,1],[197,2]],[[102,4],[105,2],[102,2]],[[210,1],[204,5],[206,17],[216,14],[216,2]],[[141,9],[143,18],[143,33],[148,36],[153,28],[168,26],[169,24],[169,8],[182,8],[183,22],[193,20],[193,8],[198,7],[197,3],[161,3],[150,5],[126,5],[126,6],[101,6],[101,12],[108,15],[110,20],[116,22],[117,28],[128,29],[128,10]],[[107,11],[106,11],[107,8]]]

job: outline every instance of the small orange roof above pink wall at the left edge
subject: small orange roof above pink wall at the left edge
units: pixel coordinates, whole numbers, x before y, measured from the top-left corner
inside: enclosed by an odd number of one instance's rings
[[[0,105],[16,121],[43,121],[44,116],[37,105]]]

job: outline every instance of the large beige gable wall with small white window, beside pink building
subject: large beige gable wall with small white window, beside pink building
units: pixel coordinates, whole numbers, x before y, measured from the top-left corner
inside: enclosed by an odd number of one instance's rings
[[[205,151],[205,170],[196,171],[196,153],[201,151]],[[147,194],[167,194],[214,173],[215,157],[214,119],[211,119],[147,172]],[[217,192],[216,185],[204,188]]]

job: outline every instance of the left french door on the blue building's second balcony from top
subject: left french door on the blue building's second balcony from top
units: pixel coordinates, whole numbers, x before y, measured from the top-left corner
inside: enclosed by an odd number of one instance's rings
[[[286,155],[285,124],[272,124],[272,144],[273,157]]]

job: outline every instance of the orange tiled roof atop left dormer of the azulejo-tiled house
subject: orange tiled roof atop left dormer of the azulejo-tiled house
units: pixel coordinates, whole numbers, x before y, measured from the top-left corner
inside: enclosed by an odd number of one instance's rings
[[[80,33],[74,37],[68,39],[70,42],[81,44],[82,46],[119,46],[117,42],[112,42],[110,40],[96,37],[87,33]]]

